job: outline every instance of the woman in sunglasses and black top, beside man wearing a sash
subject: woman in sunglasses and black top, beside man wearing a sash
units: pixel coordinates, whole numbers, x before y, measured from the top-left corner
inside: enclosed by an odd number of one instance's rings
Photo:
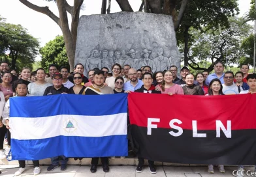
[[[84,87],[84,85],[82,85],[82,81],[83,81],[82,74],[80,74],[79,72],[76,72],[74,74],[73,80],[74,80],[74,86],[69,88],[69,93],[70,94],[84,94],[84,89],[86,87]]]

